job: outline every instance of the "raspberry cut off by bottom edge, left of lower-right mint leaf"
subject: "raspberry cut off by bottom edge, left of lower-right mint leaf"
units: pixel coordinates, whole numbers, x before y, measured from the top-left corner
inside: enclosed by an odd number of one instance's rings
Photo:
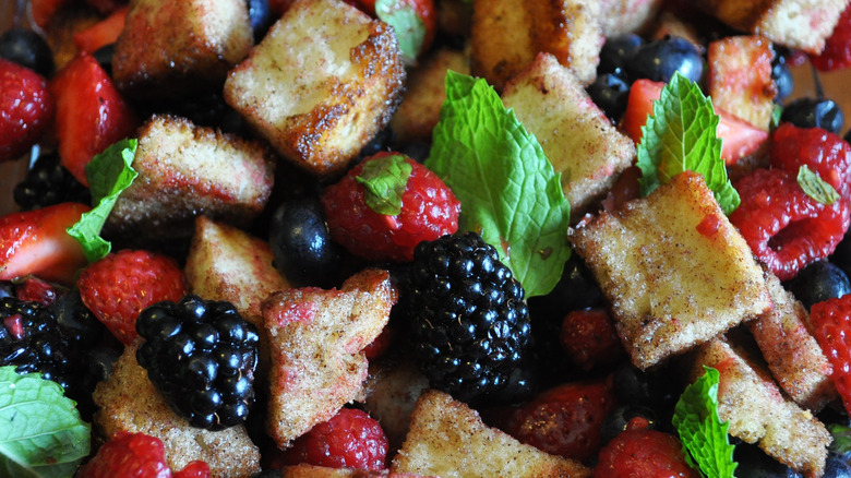
[[[688,467],[682,444],[672,434],[648,430],[638,419],[612,439],[599,455],[595,478],[698,478]]]

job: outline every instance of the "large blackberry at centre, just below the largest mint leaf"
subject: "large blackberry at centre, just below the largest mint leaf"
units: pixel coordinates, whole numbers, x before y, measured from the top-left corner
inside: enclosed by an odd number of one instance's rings
[[[404,298],[420,370],[464,402],[498,396],[529,344],[523,287],[476,232],[421,242],[413,256]]]

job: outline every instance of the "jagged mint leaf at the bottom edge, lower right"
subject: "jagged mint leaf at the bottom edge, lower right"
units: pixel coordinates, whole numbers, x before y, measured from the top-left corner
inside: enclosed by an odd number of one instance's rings
[[[704,369],[706,373],[688,385],[676,402],[673,426],[690,465],[704,476],[732,478],[738,466],[733,462],[734,446],[727,434],[729,423],[718,417],[721,375],[710,367]]]

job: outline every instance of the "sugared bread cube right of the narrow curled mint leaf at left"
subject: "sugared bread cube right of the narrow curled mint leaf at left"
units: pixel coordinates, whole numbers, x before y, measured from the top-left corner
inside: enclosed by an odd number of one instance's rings
[[[122,237],[190,238],[199,215],[244,227],[272,193],[274,163],[260,143],[154,116],[139,130],[139,176],[118,198],[105,230]]]

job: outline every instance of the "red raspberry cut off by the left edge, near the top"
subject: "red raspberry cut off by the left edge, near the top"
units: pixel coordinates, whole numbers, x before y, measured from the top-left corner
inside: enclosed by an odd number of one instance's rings
[[[17,159],[41,138],[53,103],[44,76],[0,58],[0,162]]]

